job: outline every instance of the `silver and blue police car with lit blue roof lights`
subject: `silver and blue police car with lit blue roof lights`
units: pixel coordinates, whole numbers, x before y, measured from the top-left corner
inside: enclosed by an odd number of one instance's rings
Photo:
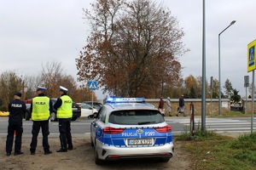
[[[172,127],[143,98],[109,98],[90,124],[95,162],[173,156]]]

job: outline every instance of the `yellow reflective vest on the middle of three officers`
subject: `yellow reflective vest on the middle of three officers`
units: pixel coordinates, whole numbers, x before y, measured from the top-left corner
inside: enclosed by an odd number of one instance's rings
[[[49,97],[35,97],[32,99],[32,120],[46,121],[49,119]]]

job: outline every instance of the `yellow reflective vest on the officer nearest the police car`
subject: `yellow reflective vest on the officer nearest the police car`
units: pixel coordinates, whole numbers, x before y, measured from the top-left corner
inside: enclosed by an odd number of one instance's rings
[[[62,104],[57,110],[57,118],[71,118],[73,101],[68,95],[61,96]]]

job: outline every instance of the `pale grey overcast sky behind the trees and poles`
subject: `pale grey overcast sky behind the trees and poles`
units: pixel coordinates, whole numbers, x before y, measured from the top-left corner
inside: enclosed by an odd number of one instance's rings
[[[75,59],[90,35],[83,8],[94,0],[0,0],[0,74],[17,71],[21,75],[38,75],[49,61],[61,62],[68,75],[77,78]],[[172,12],[185,35],[189,52],[179,57],[183,78],[202,76],[203,0],[156,1]],[[256,39],[255,0],[205,0],[206,78],[218,80],[218,34],[220,35],[221,85],[229,79],[233,88],[246,96],[244,76],[247,72],[247,44]],[[101,87],[99,87],[101,88]],[[222,88],[224,92],[224,88]],[[247,91],[248,93],[248,91]],[[96,90],[97,99],[106,94]],[[248,95],[248,94],[247,94]]]

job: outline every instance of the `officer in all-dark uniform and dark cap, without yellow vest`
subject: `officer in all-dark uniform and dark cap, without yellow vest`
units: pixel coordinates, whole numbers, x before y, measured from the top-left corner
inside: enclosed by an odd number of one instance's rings
[[[6,139],[6,156],[10,156],[15,137],[15,156],[23,154],[21,149],[21,138],[23,133],[22,119],[26,114],[26,105],[20,100],[20,92],[15,93],[15,99],[9,102],[9,125]]]

